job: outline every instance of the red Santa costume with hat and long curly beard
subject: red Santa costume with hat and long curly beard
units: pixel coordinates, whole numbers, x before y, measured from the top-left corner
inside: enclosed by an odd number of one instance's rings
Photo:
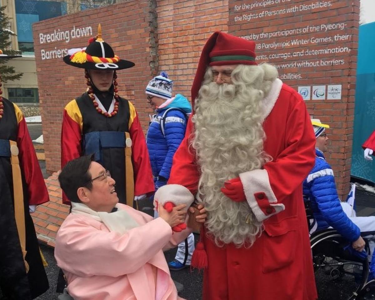
[[[302,199],[314,131],[302,97],[255,57],[252,41],[222,32],[208,39],[168,183],[207,209],[204,300],[316,299]]]

